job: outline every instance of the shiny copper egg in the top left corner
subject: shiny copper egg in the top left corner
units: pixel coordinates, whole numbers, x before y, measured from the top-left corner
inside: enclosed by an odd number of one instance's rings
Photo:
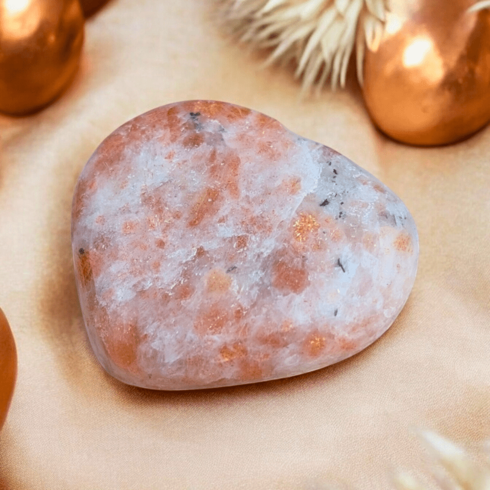
[[[78,0],[0,0],[0,112],[25,115],[59,97],[83,45]]]

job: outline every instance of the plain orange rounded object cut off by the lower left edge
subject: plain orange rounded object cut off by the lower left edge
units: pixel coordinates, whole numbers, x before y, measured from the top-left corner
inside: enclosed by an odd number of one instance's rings
[[[17,377],[17,351],[10,327],[0,310],[0,429],[7,417]]]

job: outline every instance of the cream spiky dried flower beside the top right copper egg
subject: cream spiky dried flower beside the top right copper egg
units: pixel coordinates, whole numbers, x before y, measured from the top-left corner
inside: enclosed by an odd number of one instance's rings
[[[270,50],[266,65],[293,62],[302,92],[345,86],[354,47],[362,80],[365,39],[382,32],[388,0],[216,0],[224,30]]]

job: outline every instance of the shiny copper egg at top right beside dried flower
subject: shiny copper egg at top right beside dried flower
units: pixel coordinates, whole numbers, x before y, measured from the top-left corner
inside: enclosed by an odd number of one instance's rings
[[[474,0],[394,0],[366,52],[364,98],[374,123],[412,145],[443,145],[490,120],[490,10]]]

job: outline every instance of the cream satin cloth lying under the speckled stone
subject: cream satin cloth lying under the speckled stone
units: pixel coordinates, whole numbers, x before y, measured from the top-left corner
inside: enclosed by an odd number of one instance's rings
[[[19,374],[0,435],[1,490],[386,490],[421,476],[414,427],[490,437],[490,128],[407,147],[346,91],[298,103],[298,84],[230,43],[210,1],[112,0],[86,25],[81,70],[43,112],[0,118],[0,307]],[[103,371],[73,277],[73,188],[102,139],[185,99],[268,114],[333,147],[400,196],[420,259],[408,303],[376,343],[295,378],[151,392]]]

